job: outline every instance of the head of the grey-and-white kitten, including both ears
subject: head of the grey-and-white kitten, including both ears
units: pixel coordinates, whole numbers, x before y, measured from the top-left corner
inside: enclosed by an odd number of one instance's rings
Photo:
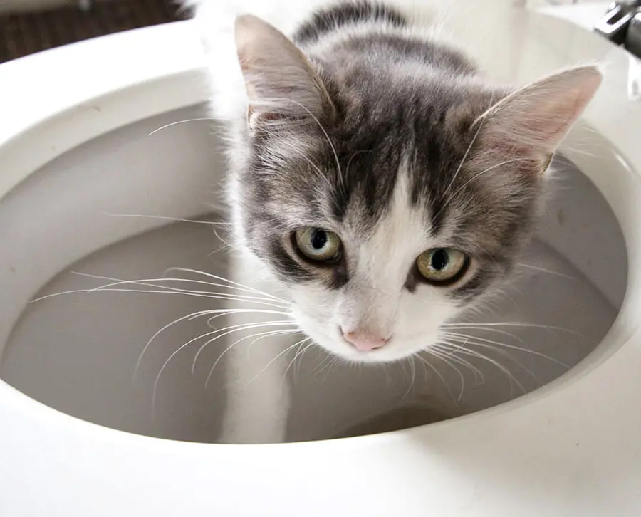
[[[366,362],[436,343],[509,277],[543,173],[601,81],[586,66],[511,91],[402,57],[305,56],[251,16],[236,45],[241,242],[305,333]]]

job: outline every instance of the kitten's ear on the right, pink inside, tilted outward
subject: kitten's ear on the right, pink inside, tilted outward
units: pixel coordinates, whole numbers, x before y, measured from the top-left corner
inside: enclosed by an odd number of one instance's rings
[[[474,122],[479,148],[541,163],[544,172],[602,80],[596,66],[581,66],[516,90]]]

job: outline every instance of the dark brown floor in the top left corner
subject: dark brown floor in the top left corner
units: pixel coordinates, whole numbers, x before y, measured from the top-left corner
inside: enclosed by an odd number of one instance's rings
[[[0,16],[0,63],[75,41],[187,17],[172,0],[96,2],[86,12],[76,6]]]

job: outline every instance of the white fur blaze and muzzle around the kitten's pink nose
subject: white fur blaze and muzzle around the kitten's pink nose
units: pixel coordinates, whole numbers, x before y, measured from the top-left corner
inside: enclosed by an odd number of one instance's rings
[[[369,236],[356,224],[340,232],[349,281],[330,290],[309,284],[293,288],[293,318],[313,340],[345,360],[388,362],[409,357],[436,342],[439,327],[459,312],[444,288],[407,278],[419,254],[443,244],[430,237],[429,218],[410,203],[407,172],[400,170],[390,207]],[[360,333],[387,340],[361,352],[343,338]]]

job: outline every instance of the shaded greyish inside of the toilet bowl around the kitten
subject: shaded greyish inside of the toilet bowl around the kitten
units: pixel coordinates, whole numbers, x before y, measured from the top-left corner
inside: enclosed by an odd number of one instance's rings
[[[98,137],[46,164],[0,201],[6,237],[0,242],[9,246],[0,281],[11,293],[0,316],[2,380],[106,427],[214,441],[224,409],[224,360],[204,385],[225,342],[205,348],[193,372],[198,342],[172,356],[211,330],[206,321],[167,328],[147,350],[135,382],[132,375],[160,328],[224,308],[224,301],[135,292],[136,286],[87,292],[106,278],[159,278],[174,266],[226,275],[224,224],[170,220],[224,222],[215,209],[224,167],[211,124],[189,122],[147,136],[198,113],[167,113]],[[557,166],[557,194],[519,265],[519,280],[484,319],[504,325],[471,331],[467,354],[427,354],[385,367],[345,365],[315,347],[292,350],[289,440],[369,434],[476,412],[546,385],[590,354],[625,295],[625,241],[592,182],[567,160]],[[64,291],[79,292],[28,303]]]

